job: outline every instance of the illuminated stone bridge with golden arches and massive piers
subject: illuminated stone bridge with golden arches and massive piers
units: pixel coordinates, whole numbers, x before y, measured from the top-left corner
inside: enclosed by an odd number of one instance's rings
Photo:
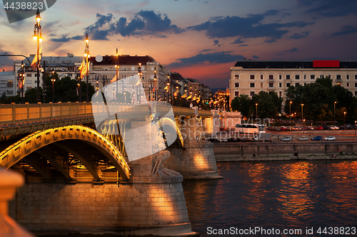
[[[167,106],[111,103],[108,110],[121,112],[98,125],[107,111],[95,102],[0,105],[0,167],[26,179],[10,216],[35,233],[193,234],[181,181],[220,178],[213,145],[198,136],[213,124],[211,111],[173,107],[174,120],[154,125],[174,144],[131,160],[155,147],[143,125]],[[136,125],[144,142],[130,131]]]

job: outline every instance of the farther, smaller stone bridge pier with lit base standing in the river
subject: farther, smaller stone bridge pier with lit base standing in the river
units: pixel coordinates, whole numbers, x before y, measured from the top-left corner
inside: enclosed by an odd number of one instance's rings
[[[184,179],[221,179],[218,174],[213,143],[203,141],[202,121],[185,118],[181,125],[184,147],[169,147],[171,156],[164,167],[180,172]]]

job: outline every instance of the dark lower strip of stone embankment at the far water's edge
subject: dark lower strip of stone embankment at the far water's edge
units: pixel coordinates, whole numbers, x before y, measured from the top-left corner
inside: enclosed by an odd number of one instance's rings
[[[235,155],[216,155],[216,162],[271,162],[271,161],[297,161],[297,160],[353,160],[357,154],[336,155],[303,155],[303,156],[269,156],[269,157],[236,157]]]

